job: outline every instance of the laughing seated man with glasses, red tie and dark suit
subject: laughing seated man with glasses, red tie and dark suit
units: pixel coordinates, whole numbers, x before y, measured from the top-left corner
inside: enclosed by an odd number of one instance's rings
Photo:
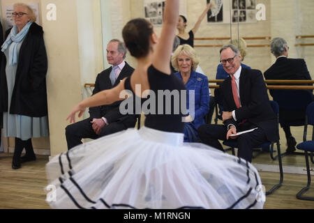
[[[251,162],[253,148],[279,138],[276,115],[271,108],[260,70],[241,67],[241,55],[234,45],[220,49],[220,61],[230,74],[220,85],[224,125],[201,125],[198,128],[204,144],[223,151],[220,140],[237,139],[238,156]],[[230,137],[244,130],[253,132]]]

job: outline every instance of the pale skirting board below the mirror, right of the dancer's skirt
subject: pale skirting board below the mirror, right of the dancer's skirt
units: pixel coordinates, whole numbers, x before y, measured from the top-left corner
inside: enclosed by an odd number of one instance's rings
[[[257,169],[257,171],[279,173],[278,165],[253,163],[253,166]],[[310,170],[311,170],[310,171],[311,175],[314,176],[313,164],[312,164],[312,167],[310,164]],[[283,173],[284,174],[306,174],[306,167],[305,166],[304,167],[283,166]]]

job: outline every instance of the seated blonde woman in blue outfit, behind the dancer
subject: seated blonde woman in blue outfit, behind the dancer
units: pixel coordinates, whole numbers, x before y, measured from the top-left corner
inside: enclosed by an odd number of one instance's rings
[[[197,128],[205,123],[204,117],[209,112],[208,78],[195,72],[199,62],[195,49],[190,45],[180,45],[174,52],[171,61],[174,69],[179,70],[175,75],[184,82],[188,92],[195,91],[195,108],[189,109],[189,99],[186,102],[189,112],[195,111],[195,113],[186,117],[184,126],[184,141],[195,142],[198,139]],[[194,120],[191,118],[193,116]]]

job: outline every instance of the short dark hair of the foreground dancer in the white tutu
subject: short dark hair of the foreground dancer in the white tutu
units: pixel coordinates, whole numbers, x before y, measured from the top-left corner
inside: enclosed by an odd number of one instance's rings
[[[126,47],[136,58],[147,56],[149,53],[151,34],[153,34],[153,26],[142,18],[130,20],[122,31]]]

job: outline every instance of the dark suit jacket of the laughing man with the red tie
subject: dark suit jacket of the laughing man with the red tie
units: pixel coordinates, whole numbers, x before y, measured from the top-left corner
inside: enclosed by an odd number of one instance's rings
[[[237,122],[233,118],[225,121],[225,126],[235,125],[239,127],[241,121],[247,120],[266,133],[269,141],[279,139],[277,117],[271,108],[267,88],[260,70],[242,68],[239,89],[241,106],[237,109],[232,96],[231,77],[227,77],[220,86],[221,98],[223,100],[223,111],[235,110]]]

